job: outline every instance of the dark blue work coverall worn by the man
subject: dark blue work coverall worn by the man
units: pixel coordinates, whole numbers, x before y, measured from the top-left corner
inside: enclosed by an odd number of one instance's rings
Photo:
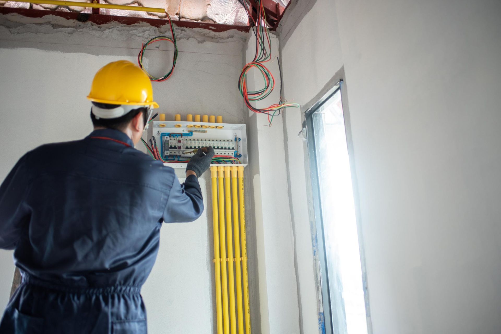
[[[202,211],[196,176],[179,184],[120,131],[27,153],[0,187],[0,248],[22,273],[0,333],[146,333],[162,222]]]

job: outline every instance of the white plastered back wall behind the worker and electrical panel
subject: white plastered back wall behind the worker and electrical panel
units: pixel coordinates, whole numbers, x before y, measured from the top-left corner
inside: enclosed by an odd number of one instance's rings
[[[59,28],[54,29],[43,24],[47,19],[31,21],[38,25],[19,25],[13,23],[19,18],[9,18],[0,16],[0,180],[26,151],[86,136],[92,126],[85,97],[95,72],[111,61],[135,62],[141,41],[165,33],[149,26],[91,27],[59,19]],[[175,72],[168,81],[153,83],[160,112],[209,113],[222,115],[226,123],[242,123],[236,82],[246,36],[197,30],[177,33],[180,53]],[[165,49],[165,45],[160,48]],[[150,69],[165,73],[172,53],[147,55],[162,64]],[[204,193],[207,182],[201,178]],[[212,223],[207,214],[210,217],[210,210],[193,223],[162,227],[159,256],[142,291],[152,334],[213,331]],[[0,267],[0,305],[6,305],[14,272],[12,252],[0,251]]]

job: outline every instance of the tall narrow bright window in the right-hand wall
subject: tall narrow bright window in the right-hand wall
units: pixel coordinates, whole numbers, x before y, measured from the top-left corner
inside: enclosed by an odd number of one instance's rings
[[[327,334],[367,334],[342,82],[306,114]]]

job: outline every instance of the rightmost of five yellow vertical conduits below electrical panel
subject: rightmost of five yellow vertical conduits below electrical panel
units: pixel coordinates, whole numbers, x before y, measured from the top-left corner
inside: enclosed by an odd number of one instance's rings
[[[242,247],[243,306],[245,333],[250,334],[249,281],[247,272],[247,240],[245,236],[245,204],[243,198],[243,166],[238,166],[238,199],[240,205],[240,243]]]

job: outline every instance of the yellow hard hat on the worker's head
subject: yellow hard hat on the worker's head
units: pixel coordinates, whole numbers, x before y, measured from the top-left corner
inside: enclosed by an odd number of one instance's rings
[[[94,76],[87,99],[98,103],[158,108],[153,101],[150,79],[143,70],[126,60],[101,68]]]

